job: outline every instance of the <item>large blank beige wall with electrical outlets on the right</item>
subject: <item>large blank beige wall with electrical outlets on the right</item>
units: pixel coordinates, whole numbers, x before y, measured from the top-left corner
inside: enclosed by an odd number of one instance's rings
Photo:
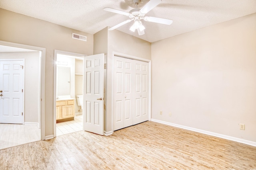
[[[152,118],[256,142],[256,14],[152,43]]]

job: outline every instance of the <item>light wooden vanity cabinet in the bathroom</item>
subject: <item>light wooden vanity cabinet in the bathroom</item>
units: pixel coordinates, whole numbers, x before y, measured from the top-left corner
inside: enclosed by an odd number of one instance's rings
[[[75,102],[74,100],[60,100],[56,101],[56,121],[70,121],[74,120],[75,116]]]

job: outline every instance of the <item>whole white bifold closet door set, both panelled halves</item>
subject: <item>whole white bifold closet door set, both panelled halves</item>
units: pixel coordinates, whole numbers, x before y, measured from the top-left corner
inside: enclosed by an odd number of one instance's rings
[[[114,131],[148,120],[148,63],[114,56]]]

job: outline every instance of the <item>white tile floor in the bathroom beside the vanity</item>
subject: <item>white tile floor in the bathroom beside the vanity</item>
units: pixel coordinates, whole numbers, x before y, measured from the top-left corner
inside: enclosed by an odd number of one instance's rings
[[[56,123],[56,136],[83,130],[83,115],[76,115],[74,120]]]

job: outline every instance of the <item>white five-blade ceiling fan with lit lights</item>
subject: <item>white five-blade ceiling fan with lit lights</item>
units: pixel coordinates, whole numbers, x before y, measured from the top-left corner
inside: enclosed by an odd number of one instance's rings
[[[154,7],[158,6],[162,2],[162,0],[150,0],[146,5],[144,5],[141,9],[137,8],[138,3],[140,0],[133,0],[134,4],[136,5],[136,8],[130,10],[130,12],[124,12],[121,10],[116,10],[113,8],[104,8],[103,10],[114,12],[116,14],[122,14],[124,16],[128,16],[130,19],[123,21],[121,23],[118,23],[114,27],[109,28],[108,30],[114,30],[126,23],[129,23],[130,21],[134,21],[134,24],[132,27],[130,27],[131,31],[135,31],[137,29],[139,35],[143,35],[145,27],[142,25],[141,20],[149,21],[149,22],[155,22],[155,23],[162,23],[166,25],[171,25],[172,20],[164,19],[164,18],[157,18],[157,17],[150,17],[145,16],[150,10],[152,10]]]

